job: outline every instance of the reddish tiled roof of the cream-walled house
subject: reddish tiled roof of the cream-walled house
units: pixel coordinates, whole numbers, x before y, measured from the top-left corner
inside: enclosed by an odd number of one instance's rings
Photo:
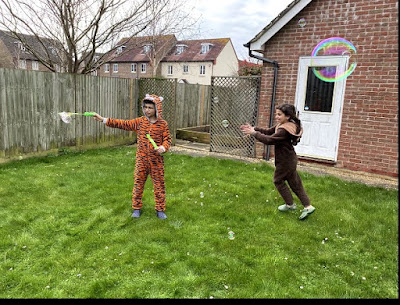
[[[181,40],[177,45],[184,45],[181,54],[177,54],[176,47],[163,58],[163,62],[186,62],[186,61],[214,61],[221,53],[222,49],[230,41],[230,38],[201,39],[201,40]],[[211,44],[210,50],[201,54],[201,45]]]

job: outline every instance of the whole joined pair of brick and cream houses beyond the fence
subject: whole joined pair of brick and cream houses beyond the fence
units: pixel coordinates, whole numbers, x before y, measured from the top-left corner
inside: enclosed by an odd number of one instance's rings
[[[202,85],[212,76],[237,76],[239,69],[229,38],[177,41],[175,35],[124,38],[103,62],[99,76],[162,76]]]

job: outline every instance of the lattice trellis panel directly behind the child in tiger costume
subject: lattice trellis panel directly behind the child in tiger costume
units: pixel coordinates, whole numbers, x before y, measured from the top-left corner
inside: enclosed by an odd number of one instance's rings
[[[155,94],[162,96],[163,113],[162,117],[168,123],[168,128],[172,138],[172,145],[176,141],[176,84],[175,78],[171,79],[158,79],[158,78],[140,78],[139,79],[139,101],[141,101],[146,94]],[[142,105],[138,103],[138,116],[143,115]]]

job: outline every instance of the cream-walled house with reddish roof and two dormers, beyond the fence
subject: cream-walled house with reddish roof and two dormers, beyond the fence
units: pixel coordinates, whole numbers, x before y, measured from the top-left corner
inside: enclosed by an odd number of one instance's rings
[[[229,38],[178,41],[161,61],[161,75],[211,85],[212,76],[238,76],[239,61]]]

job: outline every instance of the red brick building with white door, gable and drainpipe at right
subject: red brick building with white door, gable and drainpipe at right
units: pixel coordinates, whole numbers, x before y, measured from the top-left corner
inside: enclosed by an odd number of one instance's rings
[[[347,69],[354,60],[312,58],[330,37],[357,51],[353,73],[336,82],[313,73],[315,66]],[[274,124],[275,105],[292,103],[304,128],[295,147],[301,159],[398,176],[397,0],[295,0],[245,46],[264,61],[259,126]],[[260,143],[256,149],[269,152]]]

